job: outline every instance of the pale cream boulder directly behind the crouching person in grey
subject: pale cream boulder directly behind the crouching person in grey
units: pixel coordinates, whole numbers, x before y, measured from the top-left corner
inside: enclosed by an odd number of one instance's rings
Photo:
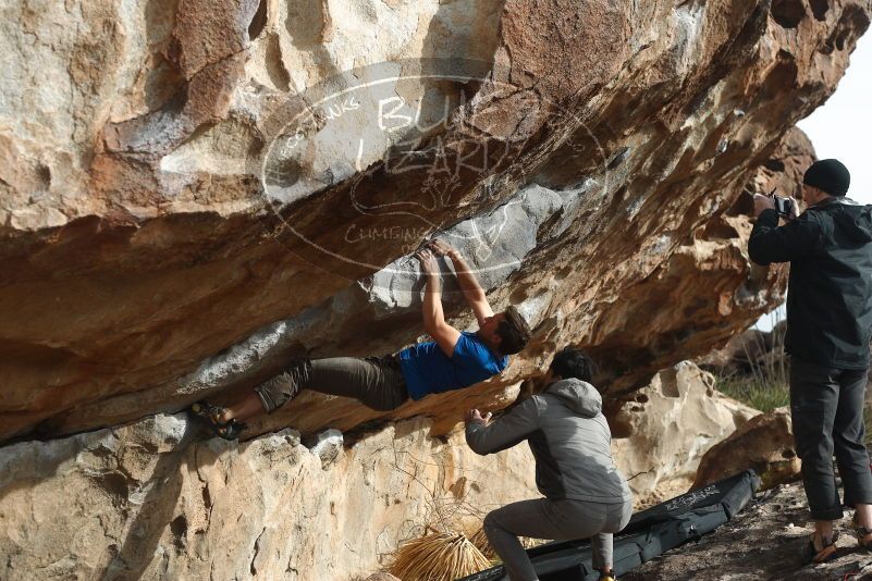
[[[709,449],[760,412],[714,390],[690,361],[658,373],[610,421],[612,456],[637,506],[686,492]]]

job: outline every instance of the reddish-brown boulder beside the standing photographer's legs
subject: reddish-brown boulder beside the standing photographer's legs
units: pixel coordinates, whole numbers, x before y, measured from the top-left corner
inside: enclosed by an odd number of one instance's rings
[[[800,467],[790,409],[777,408],[757,416],[712,447],[699,463],[693,489],[753,468],[760,474],[761,490],[765,490],[795,480]]]

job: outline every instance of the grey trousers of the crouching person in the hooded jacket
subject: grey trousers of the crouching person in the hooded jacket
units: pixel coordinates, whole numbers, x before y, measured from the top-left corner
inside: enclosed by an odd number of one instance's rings
[[[612,535],[627,526],[632,503],[602,504],[586,500],[521,500],[489,512],[484,534],[503,560],[512,581],[536,581],[530,558],[518,535],[550,541],[591,539],[593,567],[602,570],[612,564]]]

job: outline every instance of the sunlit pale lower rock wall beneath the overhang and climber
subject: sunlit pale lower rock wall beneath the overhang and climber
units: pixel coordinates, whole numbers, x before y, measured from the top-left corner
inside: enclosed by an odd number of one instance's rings
[[[428,428],[390,424],[330,463],[292,430],[198,442],[184,415],[5,446],[0,577],[366,577],[426,526],[475,529],[482,509],[537,496],[526,446],[480,457]]]

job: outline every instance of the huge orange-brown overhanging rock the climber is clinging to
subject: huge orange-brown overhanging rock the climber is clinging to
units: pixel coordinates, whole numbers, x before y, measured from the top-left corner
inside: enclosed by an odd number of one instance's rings
[[[745,254],[742,190],[789,190],[785,159],[811,156],[791,127],[834,90],[870,7],[0,11],[5,440],[175,411],[291,356],[396,350],[420,333],[408,256],[437,233],[535,341],[501,378],[388,418],[445,433],[567,343],[610,396],[631,393],[782,300],[784,273]],[[384,417],[307,395],[255,432]]]

